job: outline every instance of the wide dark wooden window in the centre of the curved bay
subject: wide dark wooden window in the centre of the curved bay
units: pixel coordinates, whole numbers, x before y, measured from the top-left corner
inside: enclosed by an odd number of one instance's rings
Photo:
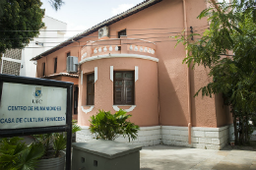
[[[114,72],[114,104],[134,104],[134,72]]]

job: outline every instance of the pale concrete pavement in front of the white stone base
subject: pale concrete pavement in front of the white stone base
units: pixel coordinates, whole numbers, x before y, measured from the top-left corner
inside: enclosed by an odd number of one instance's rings
[[[140,151],[141,170],[256,170],[256,151],[155,145]]]

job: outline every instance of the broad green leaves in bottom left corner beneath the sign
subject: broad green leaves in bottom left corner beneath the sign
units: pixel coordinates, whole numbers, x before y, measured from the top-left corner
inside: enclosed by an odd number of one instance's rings
[[[38,158],[43,154],[42,145],[32,143],[26,145],[23,139],[15,137],[0,142],[0,169],[33,170]]]

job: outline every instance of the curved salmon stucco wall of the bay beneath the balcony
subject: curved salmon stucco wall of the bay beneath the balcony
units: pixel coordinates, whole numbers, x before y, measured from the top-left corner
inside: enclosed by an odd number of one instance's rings
[[[135,105],[132,112],[131,121],[139,126],[156,126],[159,125],[159,102],[158,102],[158,66],[157,62],[135,59],[135,58],[111,58],[99,59],[86,62],[81,66],[83,71],[83,85],[80,80],[80,102],[79,107],[86,106],[86,83],[87,75],[95,72],[97,67],[97,81],[95,83],[95,106],[94,109],[85,113],[80,109],[79,125],[89,126],[90,117],[95,115],[98,109],[111,111],[113,109],[113,82],[110,80],[110,66],[113,66],[113,71],[134,71],[135,66],[138,66],[138,81],[135,83]],[[131,107],[131,106],[126,106]],[[125,107],[120,107],[125,109]]]

